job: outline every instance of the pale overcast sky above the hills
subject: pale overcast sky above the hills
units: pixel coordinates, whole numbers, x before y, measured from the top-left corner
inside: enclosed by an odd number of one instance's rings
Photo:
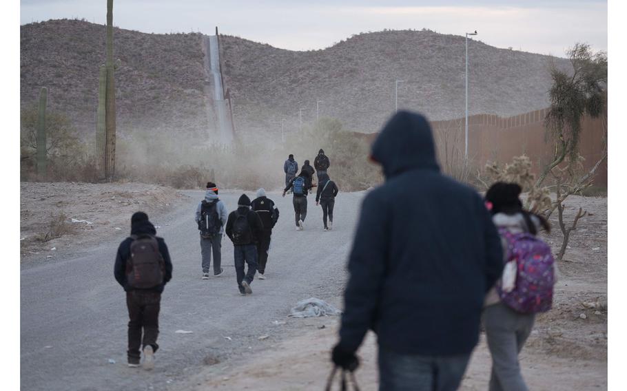
[[[20,23],[105,23],[105,0],[22,0]],[[322,49],[352,34],[429,28],[496,47],[564,56],[575,42],[607,50],[606,1],[114,0],[114,24],[141,32],[236,35],[291,50]]]

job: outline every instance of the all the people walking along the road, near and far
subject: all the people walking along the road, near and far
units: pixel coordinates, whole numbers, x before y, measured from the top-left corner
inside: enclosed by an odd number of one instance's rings
[[[380,390],[457,390],[477,345],[480,324],[492,355],[489,390],[527,390],[518,354],[535,315],[551,308],[557,270],[551,249],[537,237],[548,222],[526,211],[518,184],[497,182],[482,197],[442,175],[431,128],[419,114],[399,112],[373,143],[371,159],[385,182],[362,203],[349,254],[349,279],[339,341],[331,360],[342,370],[359,366],[356,351],[368,330],[378,335]],[[320,149],[316,204],[325,231],[333,222],[338,187]],[[290,155],[285,189],[294,193],[297,230],[307,215],[312,176]],[[203,279],[219,277],[224,233],[234,245],[241,295],[265,279],[272,229],[279,211],[264,189],[243,194],[227,214],[218,187],[207,183],[195,220],[201,235]],[[328,220],[327,220],[328,218]],[[248,270],[245,271],[245,264]],[[128,365],[154,366],[163,286],[172,278],[167,246],[143,212],[119,246],[114,274],[127,292]]]

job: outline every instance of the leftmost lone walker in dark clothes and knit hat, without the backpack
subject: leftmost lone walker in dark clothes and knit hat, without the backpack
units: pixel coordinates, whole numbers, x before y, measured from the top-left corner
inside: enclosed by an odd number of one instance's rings
[[[131,256],[131,244],[136,235],[151,235],[155,237],[158,251],[163,257],[163,284],[154,288],[138,289],[129,285],[126,277],[127,261]],[[126,306],[130,321],[128,322],[128,366],[136,367],[141,358],[140,348],[143,346],[144,368],[150,370],[154,366],[154,352],[159,348],[156,343],[159,335],[159,310],[161,308],[161,293],[165,284],[172,279],[172,261],[169,258],[167,246],[162,237],[156,236],[154,225],[148,220],[148,215],[136,212],[131,217],[131,236],[121,242],[116,255],[114,276],[116,281],[126,292]],[[143,339],[142,339],[143,329]]]

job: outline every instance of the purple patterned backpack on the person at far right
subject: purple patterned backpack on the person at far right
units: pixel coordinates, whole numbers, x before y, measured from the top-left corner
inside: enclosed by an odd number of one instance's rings
[[[496,290],[504,304],[519,313],[544,313],[553,303],[553,255],[551,247],[531,233],[499,233],[508,242],[508,262],[515,260],[516,283],[511,292],[502,290],[501,281]]]

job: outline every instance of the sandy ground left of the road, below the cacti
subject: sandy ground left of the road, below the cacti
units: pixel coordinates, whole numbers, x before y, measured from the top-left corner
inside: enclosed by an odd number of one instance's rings
[[[132,213],[165,213],[183,198],[178,191],[155,184],[21,182],[21,261],[61,259],[66,251],[127,233]],[[51,222],[59,224],[51,229]]]

